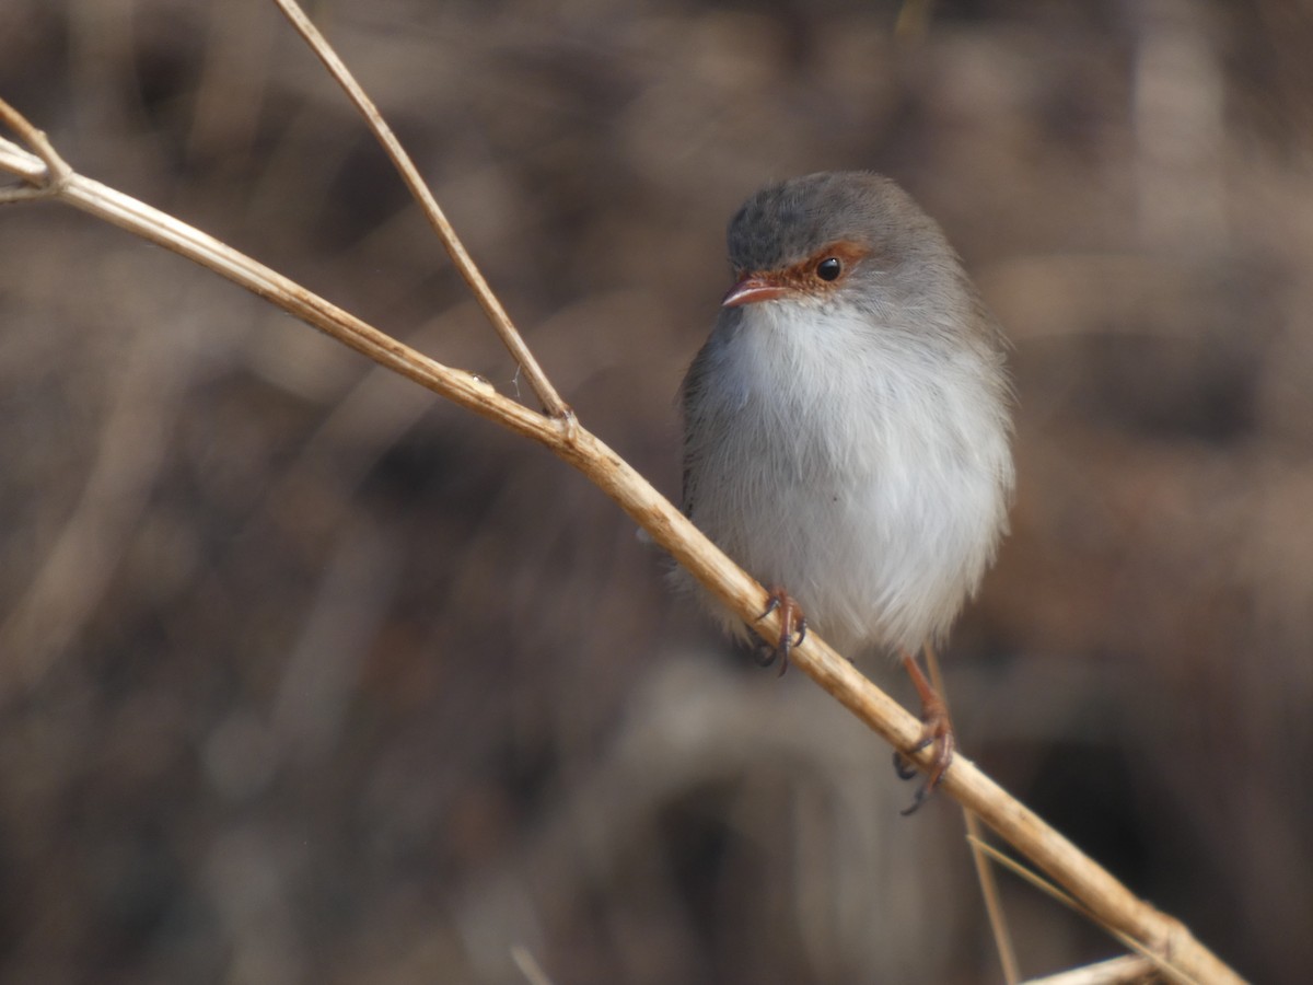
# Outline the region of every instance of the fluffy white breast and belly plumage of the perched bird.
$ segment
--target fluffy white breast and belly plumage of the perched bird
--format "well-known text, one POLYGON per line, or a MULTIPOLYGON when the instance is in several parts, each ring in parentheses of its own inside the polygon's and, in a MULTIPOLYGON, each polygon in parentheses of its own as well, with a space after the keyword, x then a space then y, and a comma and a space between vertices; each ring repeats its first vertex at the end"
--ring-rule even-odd
POLYGON ((982 376, 997 353, 760 303, 699 359, 693 521, 848 655, 941 637, 1006 525, 1007 408, 982 376))

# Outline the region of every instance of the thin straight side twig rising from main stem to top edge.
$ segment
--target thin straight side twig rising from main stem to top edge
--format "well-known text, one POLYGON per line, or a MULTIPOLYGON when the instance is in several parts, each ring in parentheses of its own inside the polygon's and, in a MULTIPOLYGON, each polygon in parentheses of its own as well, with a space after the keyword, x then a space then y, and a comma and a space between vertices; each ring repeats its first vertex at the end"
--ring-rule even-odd
POLYGON ((511 317, 506 313, 502 306, 502 301, 492 293, 487 281, 483 278, 483 273, 470 259, 469 252, 465 250, 465 244, 461 243, 460 236, 456 235, 456 230, 452 223, 448 222, 446 214, 442 211, 437 200, 433 198, 433 193, 428 190, 428 185, 424 184, 424 179, 420 177, 419 169, 415 163, 406 154, 397 135, 383 121, 382 116, 378 113, 378 108, 374 105, 373 100, 365 95, 365 91, 360 87, 352 74, 347 70, 347 66, 337 53, 332 50, 328 41, 319 33, 319 29, 310 22, 310 18, 302 12, 294 0, 273 0, 286 14, 288 20, 291 21, 301 37, 306 39, 311 50, 319 56, 319 60, 324 63, 328 74, 337 80, 337 84, 345 91, 347 97, 356 105, 360 114, 365 118, 369 129, 374 131, 374 137, 378 142, 383 144, 383 150, 387 151, 387 156, 391 158, 393 164, 397 171, 400 172, 402 180, 410 189, 411 194, 415 196, 415 201, 419 202, 420 208, 424 210, 424 215, 428 217, 429 225, 433 231, 437 232, 437 238, 446 247, 448 255, 452 257, 452 263, 456 264, 456 269, 460 271, 461 277, 469 285, 474 297, 478 299, 479 306, 482 306, 483 313, 487 319, 492 323, 496 334, 502 336, 502 341, 511 351, 511 356, 524 370, 525 377, 529 380, 529 386, 533 387, 533 393, 537 394, 538 402, 542 410, 563 422, 566 427, 574 426, 574 411, 570 410, 569 405, 561 399, 555 387, 548 380, 546 373, 538 365, 538 361, 529 352, 529 347, 525 345, 524 339, 520 332, 516 331, 515 324, 511 322, 511 317))

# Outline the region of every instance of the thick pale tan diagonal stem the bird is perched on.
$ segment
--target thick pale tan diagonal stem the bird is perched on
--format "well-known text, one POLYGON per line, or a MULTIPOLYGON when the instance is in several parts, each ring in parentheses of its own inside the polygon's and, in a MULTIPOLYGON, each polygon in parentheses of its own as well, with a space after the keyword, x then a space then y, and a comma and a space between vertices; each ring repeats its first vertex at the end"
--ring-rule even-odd
MULTIPOLYGON (((3 100, 0 108, 7 108, 3 100)), ((7 160, 18 162, 13 173, 26 177, 34 185, 49 188, 60 201, 215 271, 379 365, 544 444, 614 500, 708 591, 754 625, 764 640, 779 638, 779 615, 758 619, 767 605, 765 590, 693 527, 632 465, 583 427, 562 426, 559 418, 538 414, 503 397, 475 374, 428 359, 276 271, 121 192, 76 173, 60 177, 49 165, 42 165, 41 177, 33 179, 33 163, 41 164, 41 160, 34 155, 24 159, 21 148, 0 139, 0 163, 7 160)), ((931 749, 911 751, 920 735, 920 721, 867 680, 818 636, 809 633, 793 650, 792 661, 920 768, 932 766, 931 749)), ((978 814, 1003 841, 1066 886, 1107 926, 1138 942, 1165 968, 1170 968, 1171 978, 1208 984, 1241 981, 1195 940, 1179 921, 1138 900, 1035 812, 977 770, 966 756, 955 758, 940 789, 978 814)))

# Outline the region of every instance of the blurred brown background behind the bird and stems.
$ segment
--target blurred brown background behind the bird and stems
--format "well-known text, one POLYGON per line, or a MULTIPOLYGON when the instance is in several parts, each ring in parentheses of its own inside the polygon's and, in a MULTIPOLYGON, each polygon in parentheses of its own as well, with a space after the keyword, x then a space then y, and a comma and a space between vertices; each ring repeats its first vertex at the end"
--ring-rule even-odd
MULTIPOLYGON (((4 0, 102 180, 507 393, 272 4, 4 0)), ((1255 981, 1313 968, 1313 13, 315 5, 587 426, 674 393, 777 177, 874 168, 1015 340, 962 745, 1255 981), (915 18, 914 18, 915 20, 915 18), (905 25, 907 26, 907 25, 905 25)), ((961 820, 546 453, 55 205, 0 210, 0 978, 999 980, 961 820)), ((872 676, 903 700, 893 668, 872 676)), ((1004 876, 1029 974, 1116 952, 1004 876)))

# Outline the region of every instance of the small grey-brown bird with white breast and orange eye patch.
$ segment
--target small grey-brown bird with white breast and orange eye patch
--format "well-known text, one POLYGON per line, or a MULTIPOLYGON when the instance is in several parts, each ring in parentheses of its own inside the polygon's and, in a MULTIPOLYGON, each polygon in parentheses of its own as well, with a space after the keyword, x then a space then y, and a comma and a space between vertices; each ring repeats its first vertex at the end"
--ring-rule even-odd
POLYGON ((932 746, 911 810, 956 749, 919 655, 1007 532, 1007 343, 939 225, 885 176, 772 184, 726 243, 734 282, 680 386, 683 508, 768 587, 781 674, 809 629, 850 659, 902 661, 922 703, 916 749, 932 746))

